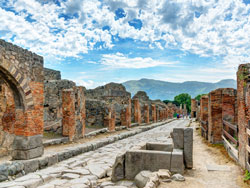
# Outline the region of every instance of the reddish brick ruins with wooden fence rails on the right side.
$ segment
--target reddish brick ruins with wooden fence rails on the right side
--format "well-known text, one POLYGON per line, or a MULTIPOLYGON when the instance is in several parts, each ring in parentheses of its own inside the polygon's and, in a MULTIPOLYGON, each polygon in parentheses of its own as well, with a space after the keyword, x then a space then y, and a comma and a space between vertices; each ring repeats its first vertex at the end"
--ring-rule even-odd
POLYGON ((250 64, 237 72, 237 90, 220 88, 200 100, 202 136, 211 143, 223 143, 228 154, 250 171, 250 64))

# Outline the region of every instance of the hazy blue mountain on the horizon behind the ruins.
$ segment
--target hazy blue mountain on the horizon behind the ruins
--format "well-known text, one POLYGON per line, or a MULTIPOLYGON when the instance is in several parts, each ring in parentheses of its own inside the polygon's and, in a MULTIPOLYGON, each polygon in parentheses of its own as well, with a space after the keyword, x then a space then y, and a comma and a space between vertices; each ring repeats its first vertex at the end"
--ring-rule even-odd
POLYGON ((187 81, 183 83, 165 82, 152 79, 130 80, 122 83, 132 96, 137 91, 145 91, 151 99, 173 100, 176 95, 188 93, 192 98, 199 94, 209 93, 217 88, 236 88, 233 79, 221 80, 216 83, 187 81))

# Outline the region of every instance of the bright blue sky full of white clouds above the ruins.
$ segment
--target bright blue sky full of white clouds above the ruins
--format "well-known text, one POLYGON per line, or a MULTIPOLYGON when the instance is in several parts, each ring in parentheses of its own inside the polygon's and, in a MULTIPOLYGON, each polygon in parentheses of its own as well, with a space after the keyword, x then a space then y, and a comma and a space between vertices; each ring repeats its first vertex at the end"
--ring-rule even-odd
POLYGON ((141 78, 235 79, 250 0, 1 0, 0 38, 93 88, 141 78))

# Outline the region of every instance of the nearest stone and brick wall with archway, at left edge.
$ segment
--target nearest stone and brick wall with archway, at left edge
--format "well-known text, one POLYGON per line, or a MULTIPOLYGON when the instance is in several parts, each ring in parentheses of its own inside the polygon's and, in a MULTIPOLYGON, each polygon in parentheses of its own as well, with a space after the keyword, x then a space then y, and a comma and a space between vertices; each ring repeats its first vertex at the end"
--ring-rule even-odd
POLYGON ((43 154, 43 80, 42 57, 0 40, 0 127, 14 137, 13 159, 43 154))

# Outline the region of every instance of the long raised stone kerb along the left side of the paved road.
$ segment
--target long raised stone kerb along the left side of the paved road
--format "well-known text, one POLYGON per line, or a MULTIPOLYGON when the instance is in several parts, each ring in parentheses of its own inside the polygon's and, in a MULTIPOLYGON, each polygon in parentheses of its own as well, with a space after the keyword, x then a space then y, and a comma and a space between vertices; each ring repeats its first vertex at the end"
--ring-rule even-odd
MULTIPOLYGON (((90 141, 88 143, 79 144, 77 146, 67 148, 61 152, 58 152, 56 154, 50 154, 48 156, 42 156, 42 157, 31 159, 31 160, 8 161, 0 165, 0 182, 14 180, 28 173, 47 168, 49 166, 52 166, 58 162, 64 161, 71 157, 74 157, 74 156, 77 156, 77 155, 80 155, 89 151, 94 151, 100 147, 114 143, 118 140, 122 140, 128 137, 134 136, 136 134, 151 130, 153 128, 165 125, 166 123, 170 123, 174 120, 175 119, 169 119, 163 122, 153 123, 151 125, 144 125, 144 126, 142 125, 142 126, 139 126, 138 129, 136 130, 131 130, 125 133, 110 136, 110 137, 103 138, 97 141, 90 141)), ((0 184, 0 188, 1 188, 1 184, 0 184)))

